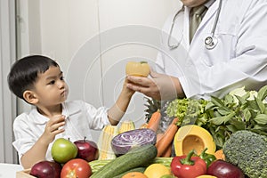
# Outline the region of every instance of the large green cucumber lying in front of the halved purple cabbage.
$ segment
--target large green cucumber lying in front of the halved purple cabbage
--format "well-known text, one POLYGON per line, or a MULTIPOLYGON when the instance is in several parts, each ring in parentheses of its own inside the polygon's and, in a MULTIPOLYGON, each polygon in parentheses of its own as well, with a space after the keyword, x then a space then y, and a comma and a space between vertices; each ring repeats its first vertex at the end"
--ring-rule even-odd
POLYGON ((139 166, 145 166, 157 157, 158 150, 153 144, 142 145, 117 157, 103 166, 90 178, 110 178, 139 166))

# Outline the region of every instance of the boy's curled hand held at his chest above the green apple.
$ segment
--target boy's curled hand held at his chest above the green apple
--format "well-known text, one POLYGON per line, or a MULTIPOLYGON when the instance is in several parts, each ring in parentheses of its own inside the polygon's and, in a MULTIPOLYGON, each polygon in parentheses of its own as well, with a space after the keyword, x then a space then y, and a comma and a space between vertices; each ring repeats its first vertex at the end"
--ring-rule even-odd
POLYGON ((50 118, 50 120, 46 123, 44 134, 42 135, 44 142, 53 142, 56 134, 61 134, 65 131, 62 127, 63 125, 65 125, 65 116, 60 115, 50 118))

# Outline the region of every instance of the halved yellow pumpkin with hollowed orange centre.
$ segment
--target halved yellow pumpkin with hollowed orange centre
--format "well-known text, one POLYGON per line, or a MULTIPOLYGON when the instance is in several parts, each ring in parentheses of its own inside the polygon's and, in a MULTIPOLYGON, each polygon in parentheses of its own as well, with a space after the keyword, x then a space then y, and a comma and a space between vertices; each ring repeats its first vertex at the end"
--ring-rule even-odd
POLYGON ((212 135, 198 125, 183 125, 174 136, 174 150, 176 156, 187 155, 190 150, 195 150, 199 155, 203 150, 214 154, 216 145, 212 135))

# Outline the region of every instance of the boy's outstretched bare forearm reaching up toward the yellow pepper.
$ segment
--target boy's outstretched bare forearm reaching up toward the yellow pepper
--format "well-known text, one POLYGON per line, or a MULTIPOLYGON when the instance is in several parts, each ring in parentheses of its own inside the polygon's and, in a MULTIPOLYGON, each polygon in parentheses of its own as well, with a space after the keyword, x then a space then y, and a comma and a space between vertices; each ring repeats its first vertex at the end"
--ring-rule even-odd
POLYGON ((120 119, 124 116, 126 109, 131 101, 134 91, 126 87, 127 79, 123 85, 123 89, 119 94, 115 104, 108 110, 109 123, 117 125, 120 119))

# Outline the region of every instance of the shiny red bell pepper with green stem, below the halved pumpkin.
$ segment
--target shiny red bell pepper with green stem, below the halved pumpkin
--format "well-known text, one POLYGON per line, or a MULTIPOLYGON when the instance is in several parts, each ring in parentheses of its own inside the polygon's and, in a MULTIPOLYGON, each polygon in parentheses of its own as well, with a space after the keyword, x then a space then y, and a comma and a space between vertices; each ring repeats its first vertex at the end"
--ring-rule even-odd
POLYGON ((171 162, 172 173, 179 178, 196 178, 206 174, 206 162, 193 155, 194 150, 191 150, 188 155, 174 157, 171 162))

